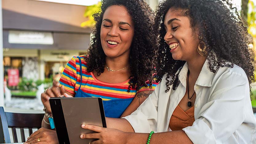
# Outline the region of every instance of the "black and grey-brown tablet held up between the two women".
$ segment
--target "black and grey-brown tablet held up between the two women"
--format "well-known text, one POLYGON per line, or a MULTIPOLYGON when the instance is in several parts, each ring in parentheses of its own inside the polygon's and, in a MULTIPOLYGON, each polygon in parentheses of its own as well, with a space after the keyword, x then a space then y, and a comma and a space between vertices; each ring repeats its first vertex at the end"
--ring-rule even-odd
POLYGON ((97 139, 81 139, 81 134, 95 133, 81 127, 106 126, 101 98, 50 98, 50 106, 59 143, 85 144, 97 139))

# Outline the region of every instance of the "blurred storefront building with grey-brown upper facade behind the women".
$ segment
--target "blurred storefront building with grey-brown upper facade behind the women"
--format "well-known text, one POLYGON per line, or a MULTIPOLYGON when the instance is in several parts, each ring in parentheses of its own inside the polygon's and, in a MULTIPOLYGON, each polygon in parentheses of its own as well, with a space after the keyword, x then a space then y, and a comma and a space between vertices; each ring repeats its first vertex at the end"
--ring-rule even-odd
POLYGON ((5 79, 12 69, 18 70, 20 78, 44 80, 59 75, 72 56, 84 54, 91 33, 91 29, 80 27, 86 21, 85 9, 52 2, 2 0, 5 79))

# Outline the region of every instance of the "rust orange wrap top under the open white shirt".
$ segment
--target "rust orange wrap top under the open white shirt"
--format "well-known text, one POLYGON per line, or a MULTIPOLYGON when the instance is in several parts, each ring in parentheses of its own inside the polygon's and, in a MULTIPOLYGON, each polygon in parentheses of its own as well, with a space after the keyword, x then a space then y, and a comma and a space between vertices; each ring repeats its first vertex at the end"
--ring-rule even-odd
POLYGON ((183 111, 179 105, 175 108, 171 115, 169 127, 171 130, 182 130, 187 126, 192 126, 195 121, 194 106, 187 111, 183 111))

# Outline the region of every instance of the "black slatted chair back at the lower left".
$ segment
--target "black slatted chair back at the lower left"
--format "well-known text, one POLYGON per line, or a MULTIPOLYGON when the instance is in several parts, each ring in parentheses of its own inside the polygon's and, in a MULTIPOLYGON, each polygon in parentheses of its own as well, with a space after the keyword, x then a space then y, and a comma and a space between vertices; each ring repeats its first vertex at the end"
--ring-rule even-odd
POLYGON ((29 134, 32 134, 32 128, 41 128, 43 118, 44 114, 5 112, 0 107, 0 143, 11 142, 8 128, 12 129, 14 142, 18 142, 16 128, 20 129, 22 142, 25 142, 24 128, 29 129, 29 134))

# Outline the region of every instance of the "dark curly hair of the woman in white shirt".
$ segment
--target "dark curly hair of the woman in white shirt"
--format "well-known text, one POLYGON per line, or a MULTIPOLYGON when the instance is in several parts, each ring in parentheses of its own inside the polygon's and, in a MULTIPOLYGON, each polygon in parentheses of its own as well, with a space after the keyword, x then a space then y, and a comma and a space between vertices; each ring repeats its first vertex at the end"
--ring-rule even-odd
POLYGON ((169 46, 164 41, 164 18, 170 8, 181 10, 182 15, 190 19, 191 28, 203 37, 206 43, 208 67, 215 73, 219 67, 233 68, 234 64, 241 67, 247 75, 249 84, 254 80, 254 52, 248 48, 249 38, 246 24, 239 17, 237 8, 230 0, 166 0, 161 2, 156 11, 155 33, 160 37, 158 49, 158 76, 166 77, 166 91, 179 85, 175 73, 185 61, 174 60, 169 46), (215 52, 215 54, 213 53, 215 52), (171 79, 170 79, 171 77, 171 79))

